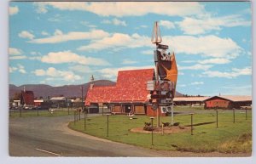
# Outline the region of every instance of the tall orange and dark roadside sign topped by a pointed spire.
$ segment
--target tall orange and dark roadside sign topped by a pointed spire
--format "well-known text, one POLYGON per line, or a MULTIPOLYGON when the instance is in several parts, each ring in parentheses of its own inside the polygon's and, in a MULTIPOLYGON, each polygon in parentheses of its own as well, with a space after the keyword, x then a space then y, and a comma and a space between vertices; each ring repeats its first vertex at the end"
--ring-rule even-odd
MULTIPOLYGON (((173 99, 176 92, 177 84, 177 64, 175 54, 168 53, 168 46, 160 44, 162 37, 160 36, 160 27, 158 22, 154 22, 154 29, 152 33, 151 42, 156 45, 154 50, 154 64, 155 64, 155 79, 153 82, 148 82, 148 90, 153 91, 154 95, 149 96, 152 105, 158 106, 160 103, 166 102, 172 109, 172 124, 173 124, 173 99), (152 89, 152 90, 151 90, 152 89), (171 99, 171 100, 170 100, 171 99)), ((160 114, 157 110, 157 126, 160 126, 160 114)))

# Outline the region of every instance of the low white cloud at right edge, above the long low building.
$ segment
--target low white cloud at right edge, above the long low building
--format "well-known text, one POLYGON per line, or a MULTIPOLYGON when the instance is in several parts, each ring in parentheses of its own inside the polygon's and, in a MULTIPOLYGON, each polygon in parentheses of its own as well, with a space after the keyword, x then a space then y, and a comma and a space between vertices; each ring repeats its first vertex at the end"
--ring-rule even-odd
POLYGON ((245 67, 242 69, 233 68, 232 71, 205 71, 203 75, 209 77, 224 77, 224 78, 235 78, 237 76, 251 76, 252 68, 245 67))

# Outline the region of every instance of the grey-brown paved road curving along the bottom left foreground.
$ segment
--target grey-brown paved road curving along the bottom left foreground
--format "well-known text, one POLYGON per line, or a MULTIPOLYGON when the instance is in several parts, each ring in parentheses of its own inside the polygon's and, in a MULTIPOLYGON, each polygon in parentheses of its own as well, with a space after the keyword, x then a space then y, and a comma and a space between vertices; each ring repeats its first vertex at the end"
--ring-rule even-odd
MULTIPOLYGON (((149 150, 98 139, 67 127, 73 116, 10 118, 10 156, 234 156, 149 150)), ((236 156, 247 156, 238 154, 236 156)))

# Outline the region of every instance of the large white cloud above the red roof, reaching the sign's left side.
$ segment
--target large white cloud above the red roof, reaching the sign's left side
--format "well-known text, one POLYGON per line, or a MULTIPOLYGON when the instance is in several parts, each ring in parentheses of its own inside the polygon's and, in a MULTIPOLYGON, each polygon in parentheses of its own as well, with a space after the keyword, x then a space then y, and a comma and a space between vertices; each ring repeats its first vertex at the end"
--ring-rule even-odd
POLYGON ((140 36, 137 33, 131 36, 123 33, 113 33, 110 37, 104 37, 102 40, 92 41, 90 44, 81 46, 79 50, 102 50, 107 48, 139 48, 153 47, 150 38, 140 36))

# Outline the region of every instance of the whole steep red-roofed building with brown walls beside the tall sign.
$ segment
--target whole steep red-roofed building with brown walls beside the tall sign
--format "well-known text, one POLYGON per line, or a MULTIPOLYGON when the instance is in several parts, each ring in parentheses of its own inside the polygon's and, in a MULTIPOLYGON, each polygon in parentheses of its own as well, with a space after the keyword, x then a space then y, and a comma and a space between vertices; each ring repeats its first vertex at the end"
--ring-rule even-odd
MULTIPOLYGON (((154 80, 154 69, 119 71, 115 86, 94 86, 93 82, 85 96, 84 105, 90 111, 100 112, 106 108, 113 114, 156 116, 152 110, 147 82, 154 80)), ((160 116, 166 116, 158 109, 160 116)), ((104 110, 105 111, 105 110, 104 110)))

